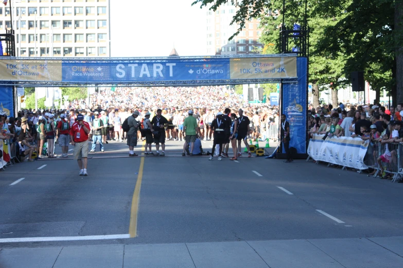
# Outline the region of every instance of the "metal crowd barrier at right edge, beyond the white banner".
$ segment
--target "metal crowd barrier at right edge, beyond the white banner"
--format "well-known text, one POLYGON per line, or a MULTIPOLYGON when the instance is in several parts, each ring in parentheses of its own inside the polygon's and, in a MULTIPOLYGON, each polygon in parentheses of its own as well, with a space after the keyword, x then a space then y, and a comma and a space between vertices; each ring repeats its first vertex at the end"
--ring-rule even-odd
POLYGON ((364 163, 375 170, 374 177, 384 177, 387 174, 391 174, 392 182, 395 182, 403 178, 403 162, 400 158, 402 155, 402 143, 382 144, 377 142, 370 144, 368 147, 364 163), (378 162, 381 163, 381 166, 379 166, 378 162))

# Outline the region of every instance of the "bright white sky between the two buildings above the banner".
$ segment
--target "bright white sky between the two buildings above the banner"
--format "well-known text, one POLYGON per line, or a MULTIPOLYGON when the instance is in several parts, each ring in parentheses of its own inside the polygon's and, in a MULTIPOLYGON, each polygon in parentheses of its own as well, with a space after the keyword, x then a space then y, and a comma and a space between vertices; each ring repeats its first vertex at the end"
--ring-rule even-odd
POLYGON ((180 56, 206 51, 206 9, 193 0, 111 1, 111 56, 180 56))

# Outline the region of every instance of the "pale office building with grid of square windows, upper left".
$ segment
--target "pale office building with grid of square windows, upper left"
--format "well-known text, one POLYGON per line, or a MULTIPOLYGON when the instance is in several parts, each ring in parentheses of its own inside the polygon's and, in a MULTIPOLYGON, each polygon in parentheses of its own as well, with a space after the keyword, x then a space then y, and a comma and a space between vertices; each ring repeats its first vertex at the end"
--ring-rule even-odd
MULTIPOLYGON (((110 0, 13 0, 17 56, 110 56, 110 0)), ((10 5, 0 6, 0 31, 10 5)))

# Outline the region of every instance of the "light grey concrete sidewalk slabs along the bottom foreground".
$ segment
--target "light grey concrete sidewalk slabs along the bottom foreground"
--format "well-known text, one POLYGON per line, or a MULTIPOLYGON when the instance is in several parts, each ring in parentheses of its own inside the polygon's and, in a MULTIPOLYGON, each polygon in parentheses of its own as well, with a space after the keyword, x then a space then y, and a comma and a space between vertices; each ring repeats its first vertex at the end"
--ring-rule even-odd
POLYGON ((403 267, 403 237, 2 248, 0 267, 403 267))

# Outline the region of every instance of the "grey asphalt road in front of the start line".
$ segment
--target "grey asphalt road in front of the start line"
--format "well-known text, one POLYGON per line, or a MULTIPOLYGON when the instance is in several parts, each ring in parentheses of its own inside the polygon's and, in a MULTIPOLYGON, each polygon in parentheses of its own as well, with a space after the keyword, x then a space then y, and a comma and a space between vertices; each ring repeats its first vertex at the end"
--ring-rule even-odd
MULTIPOLYGON (((1 247, 403 235, 403 184, 305 160, 181 157, 182 144, 144 158, 135 238, 1 247)), ((124 143, 105 150, 90 155, 86 177, 72 156, 0 171, 0 239, 128 234, 141 157, 124 143)))

